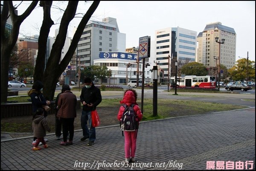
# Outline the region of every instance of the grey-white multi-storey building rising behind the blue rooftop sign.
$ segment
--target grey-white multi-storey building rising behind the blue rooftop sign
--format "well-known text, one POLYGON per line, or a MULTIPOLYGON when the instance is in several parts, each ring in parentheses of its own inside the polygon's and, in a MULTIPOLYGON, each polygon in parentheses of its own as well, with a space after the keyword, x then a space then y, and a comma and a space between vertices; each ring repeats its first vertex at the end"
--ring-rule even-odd
POLYGON ((81 66, 93 65, 102 51, 125 52, 125 34, 119 32, 115 18, 107 17, 102 22, 91 21, 84 28, 77 45, 77 57, 81 66))

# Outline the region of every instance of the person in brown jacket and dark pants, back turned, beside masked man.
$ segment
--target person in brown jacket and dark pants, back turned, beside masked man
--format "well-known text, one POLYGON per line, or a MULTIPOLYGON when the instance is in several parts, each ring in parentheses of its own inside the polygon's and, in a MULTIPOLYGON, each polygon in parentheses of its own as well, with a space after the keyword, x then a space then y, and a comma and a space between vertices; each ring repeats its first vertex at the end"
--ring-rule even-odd
POLYGON ((63 141, 61 145, 72 145, 74 137, 74 120, 76 117, 76 95, 70 91, 70 86, 64 84, 58 98, 57 116, 63 126, 63 141), (67 134, 69 131, 69 142, 67 142, 67 134))

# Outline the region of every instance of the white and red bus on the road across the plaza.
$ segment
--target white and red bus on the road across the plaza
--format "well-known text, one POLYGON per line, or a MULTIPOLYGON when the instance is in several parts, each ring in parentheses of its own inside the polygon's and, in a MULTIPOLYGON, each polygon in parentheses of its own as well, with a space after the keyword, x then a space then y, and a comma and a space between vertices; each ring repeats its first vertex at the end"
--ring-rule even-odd
MULTIPOLYGON (((175 86, 175 77, 171 77, 171 87, 175 86)), ((215 76, 195 76, 186 75, 177 77, 177 87, 195 87, 195 88, 216 88, 215 76)))

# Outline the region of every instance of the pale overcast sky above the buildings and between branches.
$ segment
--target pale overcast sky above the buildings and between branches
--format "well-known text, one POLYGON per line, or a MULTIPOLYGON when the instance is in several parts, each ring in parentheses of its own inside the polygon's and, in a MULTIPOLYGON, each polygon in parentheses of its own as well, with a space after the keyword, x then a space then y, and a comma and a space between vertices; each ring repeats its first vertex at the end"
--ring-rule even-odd
MULTIPOLYGON (((17 2, 13 1, 14 5, 17 2)), ((23 2, 27 7, 29 1, 23 2)), ((64 4, 64 1, 59 2, 54 4, 64 4)), ((86 12, 92 1, 88 2, 79 2, 79 12, 86 12)), ((23 6, 18 11, 21 14, 23 6)), ((55 23, 60 22, 57 20, 61 16, 59 13, 52 10, 55 23)), ((38 3, 37 9, 24 20, 20 32, 39 34, 36 27, 41 27, 42 15, 38 3)), ((151 36, 151 40, 154 40, 155 30, 158 29, 181 27, 199 34, 206 24, 221 22, 236 31, 236 60, 239 56, 246 58, 248 51, 249 60, 255 61, 255 1, 101 1, 91 19, 102 21, 104 17, 116 18, 119 31, 126 34, 126 48, 138 46, 139 37, 151 36)), ((58 26, 52 26, 49 36, 54 36, 58 26)), ((70 32, 75 26, 78 26, 77 21, 70 24, 70 32)))

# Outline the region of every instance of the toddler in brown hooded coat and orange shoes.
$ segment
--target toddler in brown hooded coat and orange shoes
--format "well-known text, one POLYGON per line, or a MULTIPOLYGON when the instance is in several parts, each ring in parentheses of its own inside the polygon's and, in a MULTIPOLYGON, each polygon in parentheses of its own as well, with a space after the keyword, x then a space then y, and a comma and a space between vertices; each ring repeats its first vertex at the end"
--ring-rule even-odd
POLYGON ((38 108, 35 111, 35 114, 33 115, 32 129, 34 132, 34 137, 37 137, 37 140, 32 150, 41 150, 41 148, 38 147, 40 142, 43 143, 44 148, 48 148, 48 145, 44 141, 44 137, 46 136, 46 130, 50 132, 51 129, 48 126, 47 119, 44 117, 43 108, 38 108))

